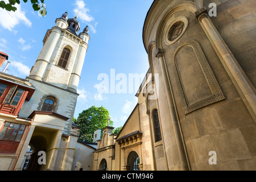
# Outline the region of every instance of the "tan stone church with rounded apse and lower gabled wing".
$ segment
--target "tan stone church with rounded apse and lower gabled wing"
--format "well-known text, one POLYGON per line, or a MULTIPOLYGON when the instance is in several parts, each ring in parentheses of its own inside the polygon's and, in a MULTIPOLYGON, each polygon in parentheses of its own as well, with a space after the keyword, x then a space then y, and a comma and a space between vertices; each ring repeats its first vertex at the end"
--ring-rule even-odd
POLYGON ((98 140, 94 170, 256 169, 253 7, 152 3, 143 27, 149 76, 121 132, 108 134, 114 142, 98 140))

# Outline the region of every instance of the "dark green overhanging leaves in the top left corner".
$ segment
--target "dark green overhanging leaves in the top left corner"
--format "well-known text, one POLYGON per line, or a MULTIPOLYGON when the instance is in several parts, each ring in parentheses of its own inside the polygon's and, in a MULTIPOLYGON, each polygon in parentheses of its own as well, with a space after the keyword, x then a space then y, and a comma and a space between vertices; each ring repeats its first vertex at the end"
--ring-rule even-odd
MULTIPOLYGON (((8 0, 9 3, 6 3, 5 1, 0 1, 0 7, 2 9, 5 9, 7 11, 16 11, 17 8, 14 6, 16 3, 19 5, 20 0, 8 0)), ((28 0, 23 0, 24 3, 26 3, 28 0)), ((42 16, 46 16, 46 6, 44 5, 44 0, 31 0, 32 7, 35 11, 39 11, 39 13, 42 16), (39 2, 40 1, 40 2, 39 2)))

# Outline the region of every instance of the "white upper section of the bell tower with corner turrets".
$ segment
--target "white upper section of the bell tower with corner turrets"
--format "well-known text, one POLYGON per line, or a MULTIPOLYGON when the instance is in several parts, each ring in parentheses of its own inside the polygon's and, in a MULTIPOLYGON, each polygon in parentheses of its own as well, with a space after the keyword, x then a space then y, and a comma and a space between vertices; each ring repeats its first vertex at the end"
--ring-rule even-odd
POLYGON ((68 19, 68 13, 55 23, 44 37, 44 46, 29 77, 76 92, 90 39, 88 26, 77 35, 77 16, 68 19))

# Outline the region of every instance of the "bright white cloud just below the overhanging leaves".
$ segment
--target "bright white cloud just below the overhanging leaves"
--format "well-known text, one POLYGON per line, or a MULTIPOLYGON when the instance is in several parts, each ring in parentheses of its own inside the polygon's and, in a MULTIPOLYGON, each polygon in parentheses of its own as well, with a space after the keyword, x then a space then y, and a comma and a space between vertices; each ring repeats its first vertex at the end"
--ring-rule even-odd
POLYGON ((16 4, 15 7, 17 8, 15 12, 9 12, 0 8, 1 26, 13 31, 14 34, 16 34, 17 31, 13 30, 13 28, 20 22, 26 24, 28 27, 32 25, 31 21, 26 17, 25 12, 21 10, 21 6, 16 4))

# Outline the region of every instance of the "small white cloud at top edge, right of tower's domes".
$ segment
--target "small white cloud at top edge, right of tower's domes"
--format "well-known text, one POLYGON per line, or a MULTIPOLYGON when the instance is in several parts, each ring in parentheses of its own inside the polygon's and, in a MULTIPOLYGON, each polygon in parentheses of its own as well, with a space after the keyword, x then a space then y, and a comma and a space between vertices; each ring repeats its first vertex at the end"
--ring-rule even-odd
POLYGON ((79 18, 83 22, 91 22, 94 20, 93 16, 89 14, 89 9, 85 7, 86 4, 82 0, 76 1, 76 8, 73 10, 75 14, 78 14, 79 18))

